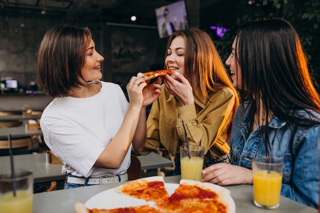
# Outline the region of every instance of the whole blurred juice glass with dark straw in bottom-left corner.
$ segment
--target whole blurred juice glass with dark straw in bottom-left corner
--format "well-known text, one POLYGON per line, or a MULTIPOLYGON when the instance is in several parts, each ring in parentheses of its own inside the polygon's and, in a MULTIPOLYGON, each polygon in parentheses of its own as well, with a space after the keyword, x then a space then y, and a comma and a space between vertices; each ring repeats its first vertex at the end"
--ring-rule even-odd
POLYGON ((29 170, 0 174, 0 212, 32 213, 33 173, 29 170))

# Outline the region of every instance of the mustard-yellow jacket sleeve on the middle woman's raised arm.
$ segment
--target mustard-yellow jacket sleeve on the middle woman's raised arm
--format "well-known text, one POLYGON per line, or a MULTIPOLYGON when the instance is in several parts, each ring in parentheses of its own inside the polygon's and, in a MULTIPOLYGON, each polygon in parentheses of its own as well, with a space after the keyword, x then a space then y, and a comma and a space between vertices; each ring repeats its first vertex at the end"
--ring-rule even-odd
POLYGON ((176 128, 180 139, 186 143, 181 122, 184 121, 190 145, 204 147, 205 153, 215 143, 224 146, 227 130, 232 123, 235 94, 222 92, 216 100, 210 101, 204 106, 203 113, 200 113, 201 115, 198 117, 195 104, 177 109, 176 128))

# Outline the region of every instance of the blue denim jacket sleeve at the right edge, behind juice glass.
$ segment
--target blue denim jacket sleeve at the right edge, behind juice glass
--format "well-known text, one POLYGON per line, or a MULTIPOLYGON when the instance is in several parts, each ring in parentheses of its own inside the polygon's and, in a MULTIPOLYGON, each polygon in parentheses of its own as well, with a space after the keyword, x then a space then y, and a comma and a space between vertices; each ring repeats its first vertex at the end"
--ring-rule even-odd
POLYGON ((295 161, 292 169, 291 184, 282 184, 281 195, 292 198, 300 203, 317 208, 319 159, 317 153, 317 135, 320 126, 316 126, 301 135, 299 143, 293 146, 295 161))

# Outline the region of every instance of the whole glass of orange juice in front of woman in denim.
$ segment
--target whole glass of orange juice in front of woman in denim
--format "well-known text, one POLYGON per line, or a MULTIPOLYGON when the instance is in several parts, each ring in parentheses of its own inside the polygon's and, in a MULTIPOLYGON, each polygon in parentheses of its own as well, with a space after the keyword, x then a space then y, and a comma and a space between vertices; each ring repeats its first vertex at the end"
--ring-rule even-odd
POLYGON ((254 202, 260 208, 279 207, 283 159, 257 157, 252 161, 254 202))

